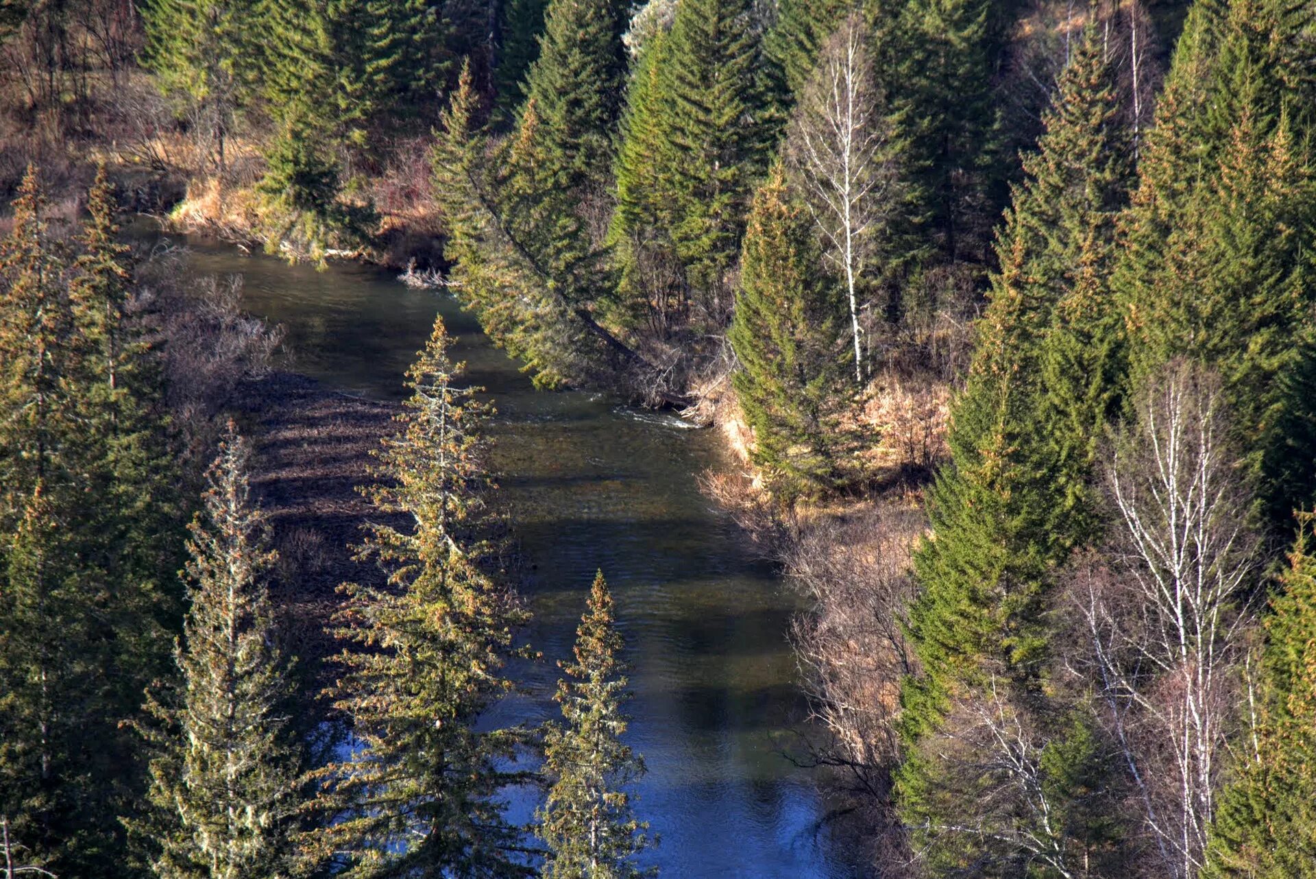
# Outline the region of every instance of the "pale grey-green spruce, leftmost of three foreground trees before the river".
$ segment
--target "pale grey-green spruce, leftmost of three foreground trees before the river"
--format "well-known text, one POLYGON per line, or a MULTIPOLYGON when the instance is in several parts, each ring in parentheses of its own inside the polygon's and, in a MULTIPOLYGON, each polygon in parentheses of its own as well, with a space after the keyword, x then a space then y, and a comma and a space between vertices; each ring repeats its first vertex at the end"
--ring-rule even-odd
POLYGON ((300 757, 290 741, 292 682, 278 646, 267 578, 275 561, 250 496, 250 446, 233 422, 207 472, 190 529, 190 608, 179 683, 153 693, 147 728, 151 870, 162 879, 300 874, 293 846, 300 757))

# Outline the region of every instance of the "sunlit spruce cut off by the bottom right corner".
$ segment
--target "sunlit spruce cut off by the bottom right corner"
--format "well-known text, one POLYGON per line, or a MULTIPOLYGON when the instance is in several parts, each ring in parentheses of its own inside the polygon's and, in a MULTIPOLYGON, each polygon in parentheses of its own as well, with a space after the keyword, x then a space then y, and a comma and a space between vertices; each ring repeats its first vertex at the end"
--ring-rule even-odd
POLYGON ((1204 879, 1316 876, 1316 518, 1299 534, 1265 620, 1257 717, 1220 795, 1204 879))

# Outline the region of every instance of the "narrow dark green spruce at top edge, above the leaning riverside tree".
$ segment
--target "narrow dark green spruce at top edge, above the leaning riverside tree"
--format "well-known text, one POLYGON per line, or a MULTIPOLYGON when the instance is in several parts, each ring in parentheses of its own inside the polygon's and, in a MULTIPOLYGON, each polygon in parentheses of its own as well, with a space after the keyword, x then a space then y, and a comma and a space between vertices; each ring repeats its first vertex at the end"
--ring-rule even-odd
POLYGON ((605 187, 624 75, 616 0, 550 0, 525 79, 545 186, 578 199, 605 187))

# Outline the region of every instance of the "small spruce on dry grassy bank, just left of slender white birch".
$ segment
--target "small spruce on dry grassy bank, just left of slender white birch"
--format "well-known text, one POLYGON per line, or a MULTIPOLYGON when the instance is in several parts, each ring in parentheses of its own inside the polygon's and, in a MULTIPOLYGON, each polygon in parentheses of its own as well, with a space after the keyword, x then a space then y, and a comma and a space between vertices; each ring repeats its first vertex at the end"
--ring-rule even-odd
POLYGON ((728 339, 741 366, 732 384, 754 430, 751 459, 784 497, 822 493, 844 478, 841 299, 821 263, 809 212, 776 167, 750 209, 728 339))

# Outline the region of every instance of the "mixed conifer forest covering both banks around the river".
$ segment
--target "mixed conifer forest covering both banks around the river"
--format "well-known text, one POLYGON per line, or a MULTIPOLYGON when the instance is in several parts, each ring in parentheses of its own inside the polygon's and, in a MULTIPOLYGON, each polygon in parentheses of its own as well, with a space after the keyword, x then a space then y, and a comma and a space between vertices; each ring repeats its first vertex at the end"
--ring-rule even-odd
POLYGON ((662 863, 443 318, 303 596, 283 330, 145 221, 716 436, 846 875, 1316 879, 1316 0, 0 0, 0 878, 662 863))

